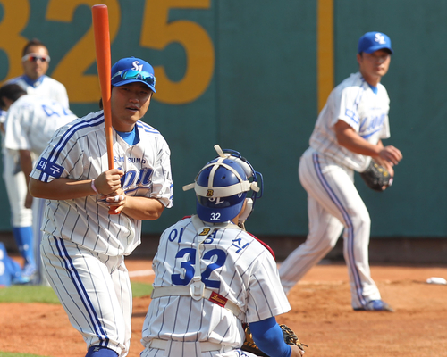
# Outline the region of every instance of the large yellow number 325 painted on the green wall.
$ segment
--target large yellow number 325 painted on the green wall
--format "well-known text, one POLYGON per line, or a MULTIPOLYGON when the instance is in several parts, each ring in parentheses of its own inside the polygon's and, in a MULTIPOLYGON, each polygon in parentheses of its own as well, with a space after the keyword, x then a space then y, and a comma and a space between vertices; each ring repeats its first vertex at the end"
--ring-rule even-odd
MULTIPOLYGON (((118 0, 102 0, 109 14, 110 41, 114 45, 121 20, 118 0)), ((49 0, 46 8, 48 21, 72 21, 75 10, 81 5, 99 4, 97 0, 49 0)), ((30 18, 29 0, 0 0, 4 7, 4 18, 0 22, 3 37, 0 47, 10 58, 7 78, 21 75, 20 59, 11 61, 12 54, 18 54, 28 41, 20 35, 30 18), (15 34, 15 35, 13 35, 15 34), (14 37, 15 36, 15 37, 14 37), (13 38, 12 38, 13 37, 13 38), (20 47, 20 48, 18 48, 20 47)), ((215 68, 215 52, 207 31, 193 21, 168 22, 169 10, 209 9, 210 0, 146 0, 143 24, 140 32, 140 46, 163 50, 176 42, 186 53, 186 71, 180 81, 174 82, 166 76, 163 66, 154 66, 156 72, 156 99, 164 104, 187 104, 198 99, 209 86, 215 68)), ((84 74, 95 61, 95 39, 93 28, 72 46, 52 72, 52 77, 67 87, 70 102, 96 102, 99 96, 97 75, 84 74)))

